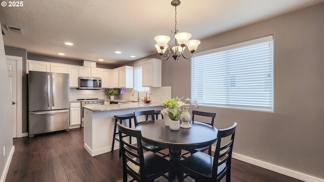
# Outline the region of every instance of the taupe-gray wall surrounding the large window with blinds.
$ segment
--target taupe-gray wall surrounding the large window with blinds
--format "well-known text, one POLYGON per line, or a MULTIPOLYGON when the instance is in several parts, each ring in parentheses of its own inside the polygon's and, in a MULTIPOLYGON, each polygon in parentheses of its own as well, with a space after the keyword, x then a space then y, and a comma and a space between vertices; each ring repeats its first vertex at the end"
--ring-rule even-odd
MULTIPOLYGON (((235 153, 324 179, 323 18, 321 3, 201 41, 197 51, 274 35, 273 113, 197 109, 216 112, 219 128, 237 122, 235 153)), ((190 61, 163 62, 162 83, 190 97, 190 61)))

